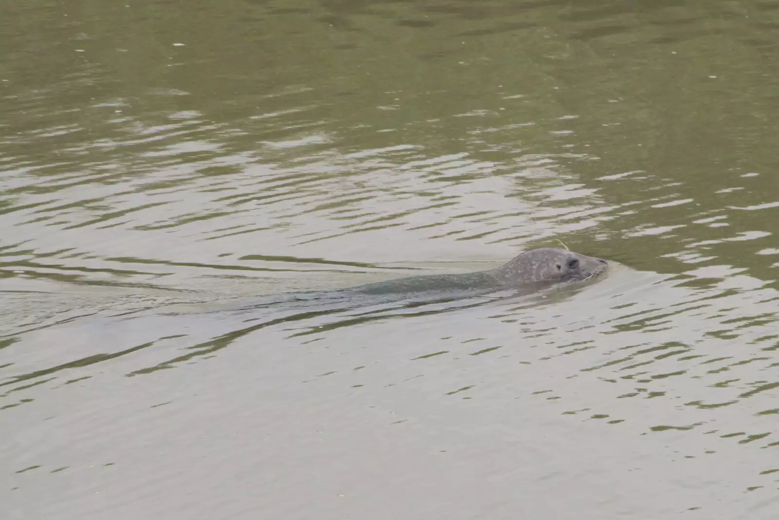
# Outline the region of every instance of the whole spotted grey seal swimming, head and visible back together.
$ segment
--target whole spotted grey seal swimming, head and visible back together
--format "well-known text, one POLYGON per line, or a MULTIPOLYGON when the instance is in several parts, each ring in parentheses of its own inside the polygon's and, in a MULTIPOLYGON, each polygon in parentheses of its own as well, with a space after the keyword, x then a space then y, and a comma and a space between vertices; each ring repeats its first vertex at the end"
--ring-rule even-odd
POLYGON ((608 269, 602 258, 580 255, 559 248, 524 251, 499 268, 450 275, 409 276, 386 282, 352 287, 365 294, 418 293, 428 291, 492 291, 520 289, 582 281, 608 269))

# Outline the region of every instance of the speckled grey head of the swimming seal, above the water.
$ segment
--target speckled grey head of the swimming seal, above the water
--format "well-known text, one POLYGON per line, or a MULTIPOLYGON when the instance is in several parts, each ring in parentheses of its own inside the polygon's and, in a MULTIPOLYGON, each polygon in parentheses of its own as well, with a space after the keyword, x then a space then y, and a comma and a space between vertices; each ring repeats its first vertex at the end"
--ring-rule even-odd
POLYGON ((580 255, 559 248, 525 251, 493 274, 501 285, 515 287, 534 282, 581 281, 601 274, 608 268, 602 258, 580 255))

